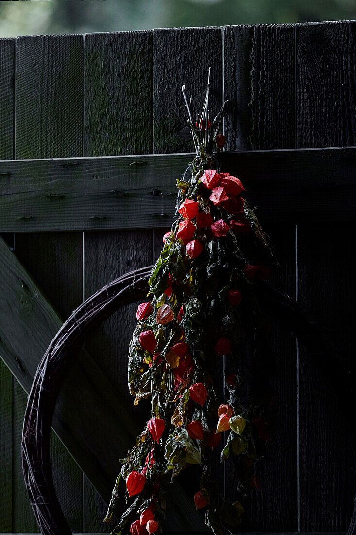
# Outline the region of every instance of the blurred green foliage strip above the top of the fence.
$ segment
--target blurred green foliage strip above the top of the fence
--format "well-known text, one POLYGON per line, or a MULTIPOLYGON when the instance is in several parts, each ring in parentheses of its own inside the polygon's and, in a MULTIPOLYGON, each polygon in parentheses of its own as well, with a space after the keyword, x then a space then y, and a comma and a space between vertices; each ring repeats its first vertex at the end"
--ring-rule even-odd
POLYGON ((356 0, 22 0, 0 3, 0 37, 355 18, 356 0))

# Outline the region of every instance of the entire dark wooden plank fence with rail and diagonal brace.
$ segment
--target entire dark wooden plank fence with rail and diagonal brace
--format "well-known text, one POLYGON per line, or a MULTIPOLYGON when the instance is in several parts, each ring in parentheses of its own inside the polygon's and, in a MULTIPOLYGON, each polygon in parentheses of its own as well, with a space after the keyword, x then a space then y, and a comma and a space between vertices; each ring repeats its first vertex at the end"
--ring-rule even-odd
MULTIPOLYGON (((274 282, 352 359, 355 65, 355 22, 0 40, 0 532, 38 531, 20 452, 36 366, 61 318, 157 258, 192 151, 181 86, 200 104, 209 66, 215 108, 230 101, 225 165, 258 206, 282 266, 274 282)), ((134 310, 92 333, 53 422, 57 493, 76 532, 108 531, 99 493, 114 483, 120 433, 126 444, 145 423, 126 383, 134 310)), ((272 328, 276 430, 242 531, 345 532, 355 465, 343 408, 303 347, 272 328)))

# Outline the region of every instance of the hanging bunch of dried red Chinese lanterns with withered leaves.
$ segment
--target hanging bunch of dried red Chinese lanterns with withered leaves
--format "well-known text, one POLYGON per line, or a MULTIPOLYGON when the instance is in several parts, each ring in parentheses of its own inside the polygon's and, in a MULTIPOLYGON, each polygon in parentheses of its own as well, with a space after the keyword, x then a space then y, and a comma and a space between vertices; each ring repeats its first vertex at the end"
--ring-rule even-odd
POLYGON ((196 157, 190 180, 187 172, 177 180, 178 218, 152 270, 149 301, 137 309, 128 384, 134 404, 151 399, 151 418, 121 460, 105 521, 112 521, 123 493, 127 509, 112 533, 159 532, 162 483, 189 464, 204 465, 194 502, 205 509, 206 524, 219 535, 224 525, 236 528, 243 506, 218 492, 207 450, 218 447, 226 433, 221 460, 233 460, 242 496, 259 486, 256 438, 268 440, 266 323, 255 281, 269 276, 272 254, 242 197, 242 182, 219 172, 213 156, 214 147, 225 144, 219 134, 225 104, 211 119, 208 82, 203 111, 194 118, 182 90, 196 157), (215 378, 223 369, 222 388, 215 378))

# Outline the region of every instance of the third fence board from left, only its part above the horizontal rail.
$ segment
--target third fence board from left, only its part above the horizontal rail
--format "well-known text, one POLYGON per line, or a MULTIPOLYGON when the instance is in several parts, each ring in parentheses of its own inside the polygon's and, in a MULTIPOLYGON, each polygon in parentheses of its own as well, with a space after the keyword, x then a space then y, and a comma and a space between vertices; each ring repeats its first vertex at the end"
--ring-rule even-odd
POLYGON ((84 155, 152 152, 152 32, 84 37, 84 155))

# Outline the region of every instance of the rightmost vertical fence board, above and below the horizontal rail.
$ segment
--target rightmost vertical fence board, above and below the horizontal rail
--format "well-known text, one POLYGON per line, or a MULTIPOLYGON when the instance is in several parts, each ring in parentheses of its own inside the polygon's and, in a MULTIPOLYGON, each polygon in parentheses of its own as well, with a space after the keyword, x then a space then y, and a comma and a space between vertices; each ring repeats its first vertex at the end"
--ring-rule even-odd
MULTIPOLYGON (((355 27, 297 27, 298 148, 355 144, 355 27)), ((299 300, 350 358, 352 236, 350 224, 298 225, 299 300)), ((299 399, 300 529, 344 530, 354 496, 350 436, 331 385, 303 347, 299 399)))

